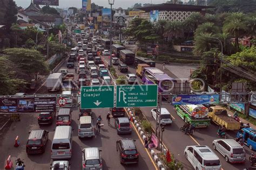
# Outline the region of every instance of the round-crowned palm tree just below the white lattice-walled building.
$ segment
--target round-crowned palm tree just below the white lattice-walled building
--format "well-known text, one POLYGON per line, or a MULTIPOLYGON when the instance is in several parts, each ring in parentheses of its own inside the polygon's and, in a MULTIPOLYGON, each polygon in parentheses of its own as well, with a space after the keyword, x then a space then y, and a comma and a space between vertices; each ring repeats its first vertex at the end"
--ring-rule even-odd
POLYGON ((168 22, 165 26, 164 36, 167 36, 168 39, 171 38, 172 42, 174 38, 184 37, 183 24, 177 21, 168 22))

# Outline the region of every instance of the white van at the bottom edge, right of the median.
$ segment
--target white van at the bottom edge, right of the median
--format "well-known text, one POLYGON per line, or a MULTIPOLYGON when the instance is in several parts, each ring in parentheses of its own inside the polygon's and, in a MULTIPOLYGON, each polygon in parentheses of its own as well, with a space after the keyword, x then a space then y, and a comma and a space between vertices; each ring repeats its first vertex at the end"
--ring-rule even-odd
POLYGON ((221 169, 219 157, 208 146, 187 146, 184 155, 194 169, 221 169))

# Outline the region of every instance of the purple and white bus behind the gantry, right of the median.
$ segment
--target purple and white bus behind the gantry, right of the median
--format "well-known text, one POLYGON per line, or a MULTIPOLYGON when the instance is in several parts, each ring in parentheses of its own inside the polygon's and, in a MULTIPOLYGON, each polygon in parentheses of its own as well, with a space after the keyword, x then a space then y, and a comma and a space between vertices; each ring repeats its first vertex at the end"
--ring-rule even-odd
POLYGON ((170 92, 177 82, 172 77, 156 67, 145 67, 142 73, 143 84, 157 84, 158 92, 170 92))

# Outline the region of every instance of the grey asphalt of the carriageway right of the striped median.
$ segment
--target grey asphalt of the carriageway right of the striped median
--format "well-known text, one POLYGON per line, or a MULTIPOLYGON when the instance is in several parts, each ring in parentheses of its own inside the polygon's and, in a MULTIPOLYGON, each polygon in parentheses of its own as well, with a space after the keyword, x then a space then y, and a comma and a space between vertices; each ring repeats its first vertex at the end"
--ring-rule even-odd
MULTIPOLYGON (((105 60, 109 62, 109 58, 104 56, 105 60)), ((120 62, 120 61, 119 61, 120 62)), ((128 68, 128 73, 120 73, 119 70, 117 69, 117 66, 113 66, 116 68, 117 74, 118 75, 126 75, 128 73, 134 73, 136 74, 136 69, 131 66, 128 68)), ((163 67, 161 64, 157 63, 156 67, 163 70, 163 67)), ((170 68, 171 66, 167 66, 166 68, 170 68)), ((177 66, 178 67, 178 66, 177 66)), ((177 68, 176 67, 176 68, 177 68)), ((191 66, 181 66, 183 68, 183 72, 190 72, 191 66)), ((169 74, 169 76, 174 77, 174 78, 184 78, 184 75, 187 75, 188 73, 182 73, 182 74, 177 74, 177 77, 175 74, 170 72, 170 70, 163 70, 165 73, 169 74)), ((138 81, 142 82, 142 80, 138 77, 138 81)), ((180 131, 180 127, 183 126, 184 121, 181 119, 177 114, 176 111, 174 111, 174 108, 171 104, 168 105, 163 105, 163 108, 166 108, 169 110, 173 117, 173 123, 170 126, 165 127, 165 131, 163 134, 163 142, 167 146, 167 148, 170 149, 170 152, 174 154, 175 158, 179 161, 182 162, 184 169, 193 169, 191 166, 190 162, 188 162, 185 157, 184 157, 184 149, 186 146, 190 145, 207 145, 212 148, 212 141, 214 139, 218 139, 217 136, 217 130, 218 126, 215 124, 210 125, 208 128, 205 129, 196 129, 196 132, 193 133, 193 136, 189 136, 184 134, 183 132, 180 131)), ((151 117, 151 110, 153 108, 140 108, 140 110, 143 111, 143 114, 147 118, 148 121, 151 122, 153 128, 156 128, 156 121, 151 117)), ((227 134, 229 138, 235 138, 237 131, 228 131, 227 134)), ((225 161, 224 157, 217 151, 214 151, 220 161, 223 169, 243 169, 243 168, 248 168, 250 166, 250 161, 248 158, 251 155, 251 151, 247 146, 244 146, 245 151, 246 151, 246 162, 245 164, 230 164, 225 161)))

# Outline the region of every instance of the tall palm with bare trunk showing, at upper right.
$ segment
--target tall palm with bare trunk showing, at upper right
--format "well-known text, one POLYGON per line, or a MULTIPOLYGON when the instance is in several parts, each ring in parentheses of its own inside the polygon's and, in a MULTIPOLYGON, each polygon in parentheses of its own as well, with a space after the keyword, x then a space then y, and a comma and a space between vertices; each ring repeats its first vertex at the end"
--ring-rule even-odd
POLYGON ((235 48, 238 50, 238 38, 248 30, 246 15, 242 12, 230 13, 230 15, 225 18, 223 30, 225 33, 230 33, 234 36, 235 48))

